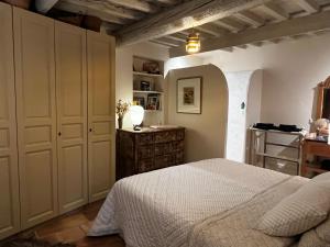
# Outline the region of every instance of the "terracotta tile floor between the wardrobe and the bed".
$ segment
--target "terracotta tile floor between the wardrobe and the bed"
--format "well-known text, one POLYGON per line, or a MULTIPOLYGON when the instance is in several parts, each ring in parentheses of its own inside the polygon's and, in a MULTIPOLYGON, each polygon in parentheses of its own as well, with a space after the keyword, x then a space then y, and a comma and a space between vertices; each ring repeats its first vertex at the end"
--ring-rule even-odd
POLYGON ((96 202, 80 210, 46 222, 34 229, 37 238, 50 243, 74 243, 77 247, 124 247, 119 236, 86 237, 102 202, 96 202))

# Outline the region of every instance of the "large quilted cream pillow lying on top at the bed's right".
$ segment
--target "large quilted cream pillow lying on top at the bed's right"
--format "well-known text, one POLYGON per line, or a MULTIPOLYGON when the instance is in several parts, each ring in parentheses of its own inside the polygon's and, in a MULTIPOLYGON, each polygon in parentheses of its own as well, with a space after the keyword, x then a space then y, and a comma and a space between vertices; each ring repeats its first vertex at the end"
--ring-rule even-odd
POLYGON ((330 180, 323 178, 310 180, 283 199, 265 213, 257 229, 272 236, 292 237, 324 221, 330 211, 330 180))

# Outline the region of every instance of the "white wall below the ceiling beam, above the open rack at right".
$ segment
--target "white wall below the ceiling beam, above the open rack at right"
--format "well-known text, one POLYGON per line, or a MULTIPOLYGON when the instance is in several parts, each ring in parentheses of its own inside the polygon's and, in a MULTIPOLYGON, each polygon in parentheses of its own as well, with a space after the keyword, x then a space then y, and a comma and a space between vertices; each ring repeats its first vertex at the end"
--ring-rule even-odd
POLYGON ((330 34, 199 55, 222 71, 263 69, 261 121, 309 128, 314 90, 330 75, 330 34))

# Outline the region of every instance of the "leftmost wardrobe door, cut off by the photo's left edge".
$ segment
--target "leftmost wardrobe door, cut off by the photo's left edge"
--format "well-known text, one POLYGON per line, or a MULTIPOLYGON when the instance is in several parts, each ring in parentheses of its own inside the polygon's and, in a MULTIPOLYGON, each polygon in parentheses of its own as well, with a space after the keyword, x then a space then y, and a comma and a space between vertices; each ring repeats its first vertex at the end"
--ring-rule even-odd
POLYGON ((20 229, 12 10, 0 2, 0 239, 20 229))

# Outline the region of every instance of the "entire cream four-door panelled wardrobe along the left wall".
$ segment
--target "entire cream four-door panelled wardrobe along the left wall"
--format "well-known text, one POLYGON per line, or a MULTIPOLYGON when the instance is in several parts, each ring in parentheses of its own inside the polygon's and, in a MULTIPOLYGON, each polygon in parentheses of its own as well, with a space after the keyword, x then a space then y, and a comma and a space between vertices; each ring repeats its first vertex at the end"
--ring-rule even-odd
POLYGON ((3 238, 113 184, 114 38, 1 2, 0 12, 3 238))

